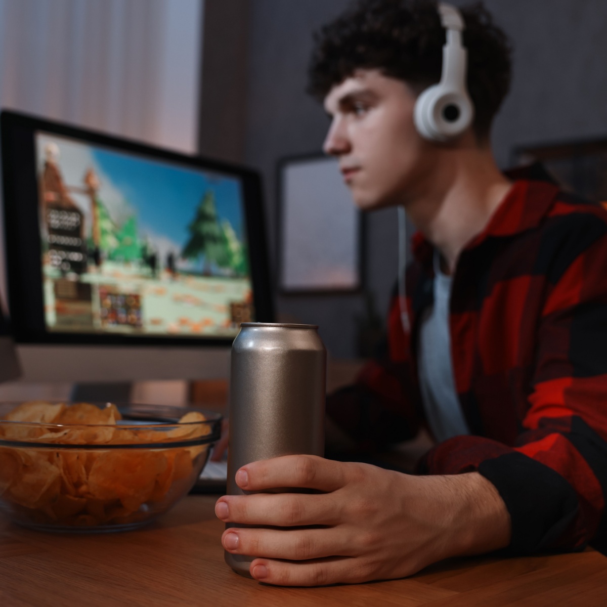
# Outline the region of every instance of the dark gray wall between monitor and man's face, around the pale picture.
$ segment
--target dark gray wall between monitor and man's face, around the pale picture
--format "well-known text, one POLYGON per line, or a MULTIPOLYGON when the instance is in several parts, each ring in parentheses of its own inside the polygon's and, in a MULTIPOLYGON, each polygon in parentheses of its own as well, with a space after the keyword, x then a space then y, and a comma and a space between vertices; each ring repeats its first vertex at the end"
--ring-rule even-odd
MULTIPOLYGON (((312 32, 347 5, 345 0, 254 0, 249 25, 249 87, 245 160, 265 177, 271 257, 277 259, 277 175, 279 158, 319 152, 329 121, 305 93, 312 32)), ((396 213, 367 215, 365 282, 376 293, 381 315, 396 276, 396 213)), ((276 264, 274 264, 276 268, 276 264)), ((361 294, 278 296, 285 320, 320 325, 333 356, 356 354, 354 317, 364 313, 361 294)))

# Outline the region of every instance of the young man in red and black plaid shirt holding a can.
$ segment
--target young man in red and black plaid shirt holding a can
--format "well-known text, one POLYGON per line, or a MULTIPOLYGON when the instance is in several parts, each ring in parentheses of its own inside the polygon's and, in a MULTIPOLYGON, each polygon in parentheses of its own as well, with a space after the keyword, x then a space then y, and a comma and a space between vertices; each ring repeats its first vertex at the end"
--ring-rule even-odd
POLYGON ((237 472, 217 502, 223 546, 257 580, 319 585, 402 577, 454 555, 607 546, 607 217, 551 183, 512 181, 489 145, 509 49, 483 8, 463 10, 475 121, 450 143, 416 129, 441 76, 430 0, 362 0, 322 31, 311 89, 333 121, 362 209, 404 207, 419 233, 389 348, 328 415, 359 446, 438 445, 405 475, 287 456, 237 472), (293 529, 276 529, 294 527, 293 529))

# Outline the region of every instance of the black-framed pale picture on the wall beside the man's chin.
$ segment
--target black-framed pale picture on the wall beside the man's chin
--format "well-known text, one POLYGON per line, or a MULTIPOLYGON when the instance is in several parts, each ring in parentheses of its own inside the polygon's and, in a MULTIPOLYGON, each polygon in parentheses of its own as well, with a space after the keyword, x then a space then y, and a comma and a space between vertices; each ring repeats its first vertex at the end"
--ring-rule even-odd
POLYGON ((361 291, 364 222, 337 159, 283 158, 278 177, 280 293, 361 291))

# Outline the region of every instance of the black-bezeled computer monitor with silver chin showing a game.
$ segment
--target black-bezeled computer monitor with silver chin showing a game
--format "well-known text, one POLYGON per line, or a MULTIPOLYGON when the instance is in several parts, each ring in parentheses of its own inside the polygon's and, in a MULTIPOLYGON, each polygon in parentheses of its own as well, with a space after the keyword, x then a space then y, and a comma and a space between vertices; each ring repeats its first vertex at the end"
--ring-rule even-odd
POLYGON ((23 379, 226 376, 273 319, 259 174, 16 112, 0 134, 23 379))

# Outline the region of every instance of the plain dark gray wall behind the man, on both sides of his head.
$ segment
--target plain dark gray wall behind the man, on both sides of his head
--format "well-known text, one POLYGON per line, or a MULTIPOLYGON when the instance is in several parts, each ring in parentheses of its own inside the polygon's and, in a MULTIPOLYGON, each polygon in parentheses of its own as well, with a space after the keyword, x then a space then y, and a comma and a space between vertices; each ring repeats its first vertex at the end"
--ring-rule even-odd
MULTIPOLYGON (((312 32, 346 4, 249 0, 243 160, 265 178, 273 262, 276 163, 320 151, 328 126, 322 108, 304 92, 312 32)), ((500 165, 509 163, 518 144, 607 136, 607 2, 487 0, 486 5, 515 47, 512 92, 494 129, 500 165)), ((381 313, 396 276, 395 219, 392 209, 367 215, 367 285, 381 313)), ((277 297, 282 317, 320 324, 331 354, 339 357, 355 354, 354 316, 363 307, 360 295, 277 297)))

